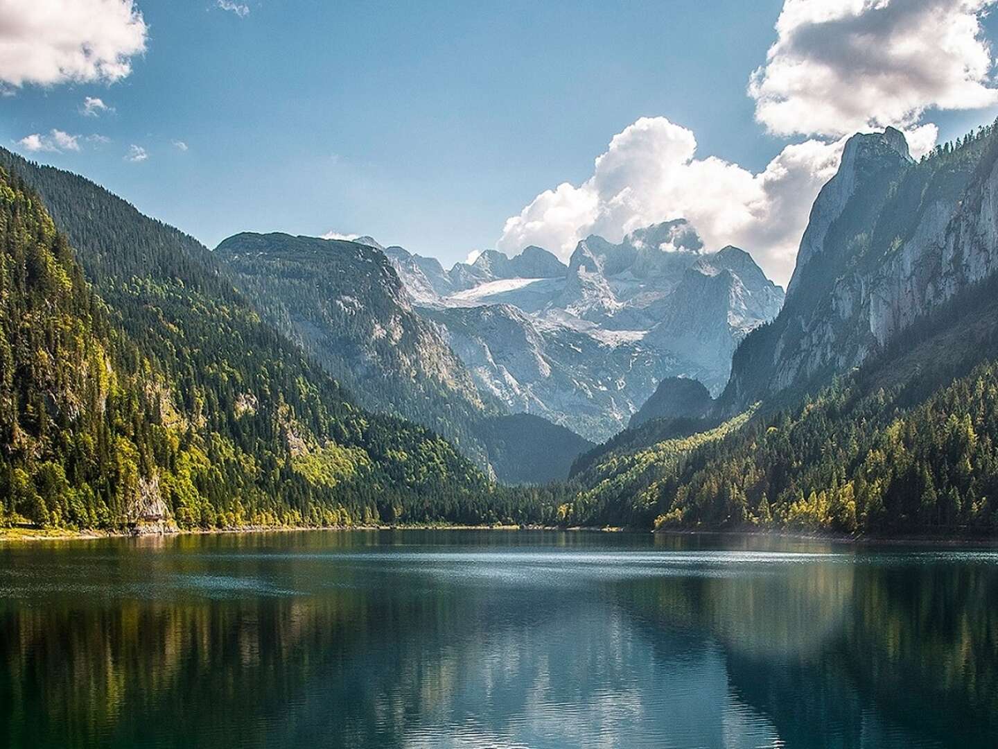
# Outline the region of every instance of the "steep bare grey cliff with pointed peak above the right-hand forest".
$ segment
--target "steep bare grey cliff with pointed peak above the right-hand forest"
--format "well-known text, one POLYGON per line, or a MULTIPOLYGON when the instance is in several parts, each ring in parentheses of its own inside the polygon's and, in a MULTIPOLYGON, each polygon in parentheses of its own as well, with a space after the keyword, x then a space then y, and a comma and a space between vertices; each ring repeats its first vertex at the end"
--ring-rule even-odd
POLYGON ((866 360, 996 266, 995 135, 919 163, 891 128, 849 140, 821 190, 782 311, 737 352, 727 410, 866 360))

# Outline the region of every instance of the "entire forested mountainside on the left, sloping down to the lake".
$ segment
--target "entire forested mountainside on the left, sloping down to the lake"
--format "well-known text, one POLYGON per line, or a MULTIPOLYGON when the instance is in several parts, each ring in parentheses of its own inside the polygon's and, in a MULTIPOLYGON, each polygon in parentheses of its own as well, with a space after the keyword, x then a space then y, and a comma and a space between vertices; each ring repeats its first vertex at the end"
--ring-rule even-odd
POLYGON ((182 527, 536 515, 426 428, 352 404, 191 237, 0 162, 5 521, 118 527, 159 499, 182 527))

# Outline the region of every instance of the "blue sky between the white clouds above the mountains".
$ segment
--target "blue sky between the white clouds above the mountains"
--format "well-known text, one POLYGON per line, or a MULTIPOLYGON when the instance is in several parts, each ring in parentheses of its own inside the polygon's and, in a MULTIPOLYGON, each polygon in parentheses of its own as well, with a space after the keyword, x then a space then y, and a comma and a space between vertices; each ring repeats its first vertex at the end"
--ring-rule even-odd
MULTIPOLYGON (((774 135, 755 119, 749 75, 777 40, 782 0, 227 4, 234 10, 139 0, 145 51, 126 56, 129 73, 14 81, 0 98, 0 141, 90 177, 210 247, 246 230, 332 230, 450 263, 500 238, 504 249, 534 234, 568 247, 593 226, 620 234, 668 213, 644 206, 617 224, 579 220, 561 234, 525 219, 529 231, 504 237, 507 219, 543 191, 590 179, 611 138, 642 117, 668 118, 695 134, 698 159, 750 174, 788 144, 839 135, 821 125, 774 135), (87 116, 85 97, 109 109, 87 116), (79 150, 59 148, 53 130, 77 136, 79 150), (30 151, 21 141, 32 134, 43 139, 34 146, 59 150, 30 151)), ((972 15, 991 36, 996 21, 972 15)), ((3 64, 0 54, 0 80, 3 64)), ((996 111, 987 95, 982 106, 945 112, 932 107, 938 92, 927 96, 927 113, 911 122, 931 120, 943 139, 996 111)), ((708 235, 720 243, 719 226, 708 235)))

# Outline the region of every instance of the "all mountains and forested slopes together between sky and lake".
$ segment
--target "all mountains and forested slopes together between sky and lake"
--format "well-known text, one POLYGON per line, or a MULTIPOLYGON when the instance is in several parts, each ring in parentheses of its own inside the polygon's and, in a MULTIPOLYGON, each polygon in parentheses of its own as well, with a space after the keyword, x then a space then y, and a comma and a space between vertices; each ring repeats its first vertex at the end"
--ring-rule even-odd
POLYGON ((852 137, 785 294, 684 219, 447 270, 0 167, 0 525, 998 526, 994 127, 852 137))

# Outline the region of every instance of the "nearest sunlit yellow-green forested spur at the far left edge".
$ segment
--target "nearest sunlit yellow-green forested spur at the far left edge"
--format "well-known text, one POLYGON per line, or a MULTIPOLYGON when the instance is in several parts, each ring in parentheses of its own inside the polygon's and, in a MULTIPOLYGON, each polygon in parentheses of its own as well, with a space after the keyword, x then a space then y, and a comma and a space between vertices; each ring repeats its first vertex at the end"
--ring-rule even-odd
POLYGON ((153 443, 175 417, 162 383, 90 293, 41 202, 3 171, 0 240, 0 523, 135 516, 153 443))

